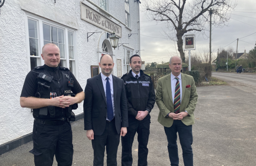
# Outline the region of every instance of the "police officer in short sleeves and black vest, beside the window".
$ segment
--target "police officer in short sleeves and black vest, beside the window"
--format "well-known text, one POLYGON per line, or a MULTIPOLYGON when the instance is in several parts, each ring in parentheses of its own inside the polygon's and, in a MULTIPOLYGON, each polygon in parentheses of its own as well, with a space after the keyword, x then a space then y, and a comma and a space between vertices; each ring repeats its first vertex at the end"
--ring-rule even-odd
POLYGON ((25 79, 20 95, 21 107, 33 109, 35 166, 71 166, 73 159, 72 109, 85 94, 68 68, 59 67, 60 49, 53 43, 43 46, 44 65, 35 67, 25 79))

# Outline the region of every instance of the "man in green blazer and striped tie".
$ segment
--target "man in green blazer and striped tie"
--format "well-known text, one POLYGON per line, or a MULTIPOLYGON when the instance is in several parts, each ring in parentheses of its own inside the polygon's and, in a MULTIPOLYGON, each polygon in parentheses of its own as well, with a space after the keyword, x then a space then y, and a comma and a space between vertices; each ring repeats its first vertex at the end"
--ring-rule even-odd
POLYGON ((195 81, 192 76, 181 73, 182 60, 171 57, 171 74, 159 78, 156 88, 156 104, 159 108, 158 122, 164 126, 168 141, 171 166, 179 166, 177 132, 180 138, 184 166, 193 166, 192 124, 197 103, 195 81))

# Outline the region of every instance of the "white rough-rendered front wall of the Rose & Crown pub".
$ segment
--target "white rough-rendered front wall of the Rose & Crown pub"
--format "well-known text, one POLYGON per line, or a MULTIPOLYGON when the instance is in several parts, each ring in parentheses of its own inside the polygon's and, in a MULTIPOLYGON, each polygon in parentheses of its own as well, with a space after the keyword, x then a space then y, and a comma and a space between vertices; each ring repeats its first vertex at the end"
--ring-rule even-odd
MULTIPOLYGON (((99 0, 93 0, 99 5, 99 0)), ((95 6, 86 0, 85 4, 102 14, 95 6)), ((125 23, 125 11, 123 0, 109 0, 109 13, 125 23)), ((27 57, 27 41, 25 30, 26 13, 34 14, 36 17, 48 19, 64 26, 76 29, 76 56, 77 56, 77 79, 85 89, 86 80, 91 77, 91 65, 99 63, 99 49, 102 43, 100 39, 106 38, 105 30, 102 30, 80 18, 79 0, 12 0, 5 1, 0 14, 0 144, 19 138, 32 132, 33 116, 31 109, 21 108, 19 98, 25 77, 29 71, 27 57), (95 33, 87 42, 88 32, 95 33)), ((109 17, 108 17, 109 18, 109 17)), ((138 33, 138 3, 130 1, 130 18, 132 31, 120 24, 113 18, 111 21, 122 27, 122 38, 119 43, 126 44, 127 47, 138 50, 138 35, 132 35, 128 39, 128 34, 138 33)), ((111 48, 109 48, 111 49, 111 48)), ((114 63, 116 59, 122 59, 123 46, 113 49, 114 63)), ((117 66, 114 66, 114 75, 117 75, 117 66)), ((122 73, 123 73, 122 65, 122 73)), ((83 112, 83 102, 74 110, 75 114, 83 112)))

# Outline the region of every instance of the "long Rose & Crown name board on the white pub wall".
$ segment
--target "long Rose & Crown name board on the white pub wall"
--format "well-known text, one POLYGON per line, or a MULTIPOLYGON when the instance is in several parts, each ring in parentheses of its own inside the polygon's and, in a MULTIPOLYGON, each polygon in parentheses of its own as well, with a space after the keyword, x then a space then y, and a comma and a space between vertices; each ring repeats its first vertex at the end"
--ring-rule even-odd
POLYGON ((80 2, 81 6, 81 19, 93 24, 103 30, 106 30, 109 33, 113 33, 118 37, 122 37, 122 28, 121 26, 117 25, 116 23, 112 22, 102 14, 98 13, 96 10, 92 9, 91 7, 85 5, 84 3, 80 2))

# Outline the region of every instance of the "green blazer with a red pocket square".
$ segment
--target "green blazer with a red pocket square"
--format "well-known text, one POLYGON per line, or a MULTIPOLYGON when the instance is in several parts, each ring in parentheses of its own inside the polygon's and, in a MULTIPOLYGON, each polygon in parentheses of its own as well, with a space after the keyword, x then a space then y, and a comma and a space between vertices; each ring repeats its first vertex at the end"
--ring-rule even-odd
MULTIPOLYGON (((188 112, 188 116, 184 117, 181 121, 185 125, 195 124, 194 110, 197 103, 197 92, 195 81, 192 76, 181 73, 182 83, 182 98, 180 104, 180 112, 185 110, 188 112), (190 88, 186 88, 186 85, 190 85, 190 88)), ((171 95, 171 74, 159 78, 155 93, 155 101, 159 108, 158 122, 165 127, 171 127, 173 119, 166 117, 168 113, 174 113, 173 101, 171 95)))

